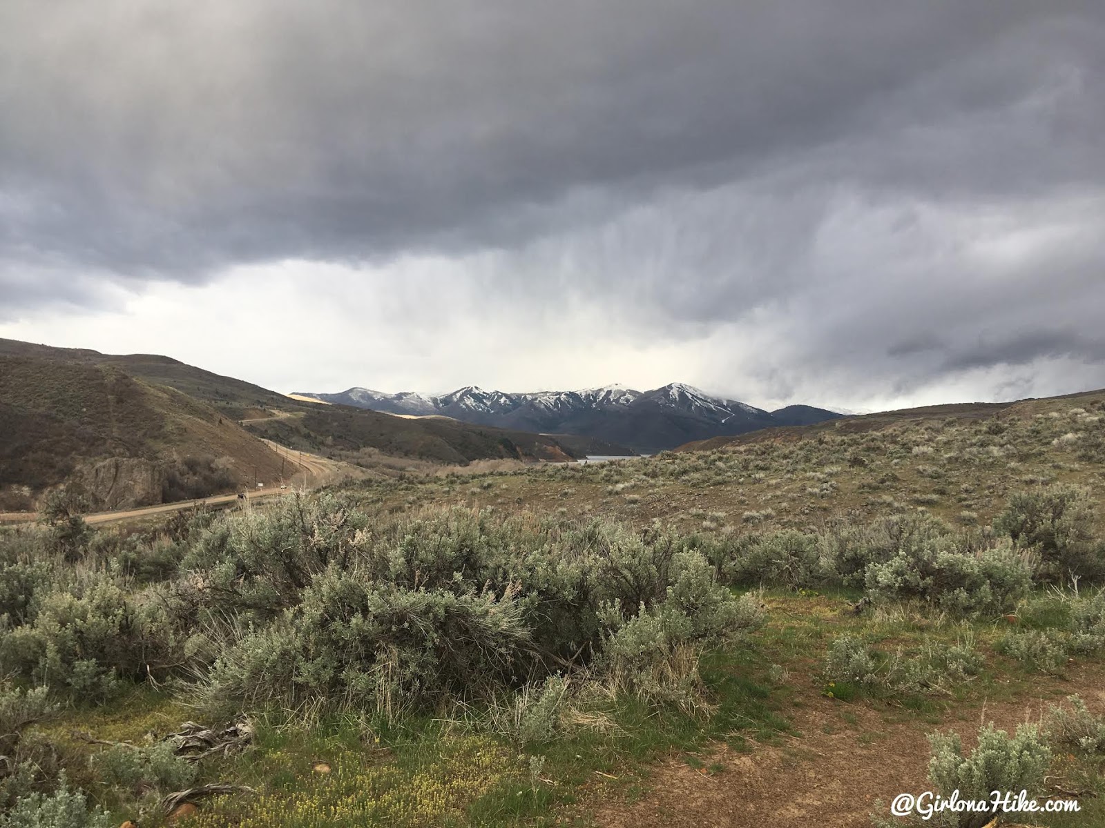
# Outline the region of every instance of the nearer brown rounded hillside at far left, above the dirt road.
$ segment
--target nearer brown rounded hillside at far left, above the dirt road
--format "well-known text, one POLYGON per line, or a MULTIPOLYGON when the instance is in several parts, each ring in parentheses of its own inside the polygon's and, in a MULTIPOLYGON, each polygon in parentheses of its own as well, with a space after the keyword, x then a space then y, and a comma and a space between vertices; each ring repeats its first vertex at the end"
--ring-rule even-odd
POLYGON ((280 461, 233 420, 116 367, 0 355, 0 509, 63 482, 88 509, 230 491, 280 461))

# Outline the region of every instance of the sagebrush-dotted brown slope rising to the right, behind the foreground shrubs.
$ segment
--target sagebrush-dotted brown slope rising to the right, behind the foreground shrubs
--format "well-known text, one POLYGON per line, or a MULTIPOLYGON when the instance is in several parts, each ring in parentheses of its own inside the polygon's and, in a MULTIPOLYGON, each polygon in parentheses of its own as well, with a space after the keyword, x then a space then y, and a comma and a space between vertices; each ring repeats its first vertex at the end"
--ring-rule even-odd
MULTIPOLYGON (((943 405, 693 443, 650 458, 503 474, 486 488, 380 487, 388 505, 508 506, 639 526, 740 532, 925 510, 985 526, 1010 491, 1060 482, 1105 497, 1105 391, 943 405)), ((413 485, 412 485, 413 486, 413 485)))

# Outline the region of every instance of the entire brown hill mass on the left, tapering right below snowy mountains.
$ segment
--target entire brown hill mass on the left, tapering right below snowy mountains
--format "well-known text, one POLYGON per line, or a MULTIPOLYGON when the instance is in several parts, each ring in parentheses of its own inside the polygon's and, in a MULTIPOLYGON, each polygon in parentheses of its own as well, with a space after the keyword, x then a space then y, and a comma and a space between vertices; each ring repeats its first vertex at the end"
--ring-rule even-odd
POLYGON ((30 508, 64 481, 80 482, 96 507, 116 508, 199 497, 190 492, 203 479, 218 490, 276 479, 281 464, 259 437, 367 466, 380 457, 463 465, 629 452, 295 400, 157 354, 0 339, 0 510, 30 508))

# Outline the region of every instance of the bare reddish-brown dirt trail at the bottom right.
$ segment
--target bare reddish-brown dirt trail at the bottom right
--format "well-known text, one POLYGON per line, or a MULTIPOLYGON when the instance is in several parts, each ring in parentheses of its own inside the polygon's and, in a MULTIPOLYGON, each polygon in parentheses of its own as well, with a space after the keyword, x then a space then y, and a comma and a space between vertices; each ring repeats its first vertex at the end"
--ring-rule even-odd
POLYGON ((621 796, 577 806, 603 828, 870 828, 875 803, 902 793, 920 794, 928 764, 926 734, 955 730, 974 746, 983 719, 1009 731, 1039 722, 1050 703, 1078 693, 1095 712, 1105 711, 1105 666, 1074 668, 1067 680, 1041 677, 1031 699, 968 704, 939 724, 916 713, 864 703, 843 704, 810 692, 793 711, 800 735, 750 753, 719 745, 711 756, 725 769, 706 775, 672 758, 653 768, 638 802, 621 796))

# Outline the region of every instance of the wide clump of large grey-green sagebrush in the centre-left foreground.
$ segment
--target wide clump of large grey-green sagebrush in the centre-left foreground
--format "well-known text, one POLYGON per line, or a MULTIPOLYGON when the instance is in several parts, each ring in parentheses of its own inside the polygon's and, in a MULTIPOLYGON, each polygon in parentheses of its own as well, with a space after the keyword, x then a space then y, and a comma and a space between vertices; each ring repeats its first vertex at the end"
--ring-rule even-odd
POLYGON ((585 666, 675 697, 696 671, 673 664, 758 617, 666 533, 470 510, 369 527, 326 497, 217 522, 181 567, 172 606, 215 639, 189 645, 219 654, 212 698, 286 707, 393 712, 585 666))

